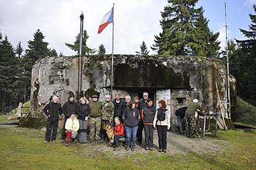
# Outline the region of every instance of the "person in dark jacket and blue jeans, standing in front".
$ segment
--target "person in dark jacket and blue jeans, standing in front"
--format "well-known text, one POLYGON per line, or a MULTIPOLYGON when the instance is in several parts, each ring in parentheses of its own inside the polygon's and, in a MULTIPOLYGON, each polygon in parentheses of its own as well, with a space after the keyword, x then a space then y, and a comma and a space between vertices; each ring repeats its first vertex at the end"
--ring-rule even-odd
POLYGON ((127 143, 126 150, 129 150, 129 148, 131 148, 131 150, 134 151, 136 146, 136 134, 138 130, 138 124, 140 123, 140 111, 135 108, 134 102, 129 102, 129 108, 124 111, 122 119, 125 125, 127 143))

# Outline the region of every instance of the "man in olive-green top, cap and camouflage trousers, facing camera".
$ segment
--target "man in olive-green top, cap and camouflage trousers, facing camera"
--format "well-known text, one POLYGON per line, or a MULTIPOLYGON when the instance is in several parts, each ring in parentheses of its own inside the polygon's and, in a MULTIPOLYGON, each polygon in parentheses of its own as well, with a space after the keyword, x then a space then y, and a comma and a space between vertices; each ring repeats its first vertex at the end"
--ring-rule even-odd
POLYGON ((92 95, 92 101, 89 102, 90 105, 90 134, 89 134, 89 143, 95 141, 95 143, 99 143, 99 134, 100 134, 100 123, 101 123, 101 116, 102 116, 102 104, 98 101, 97 95, 92 95))

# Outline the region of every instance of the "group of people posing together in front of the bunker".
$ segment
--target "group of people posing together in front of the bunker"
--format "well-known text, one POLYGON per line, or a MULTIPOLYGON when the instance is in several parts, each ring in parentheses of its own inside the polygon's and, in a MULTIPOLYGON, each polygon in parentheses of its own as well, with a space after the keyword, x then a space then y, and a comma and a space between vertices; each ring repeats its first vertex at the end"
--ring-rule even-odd
POLYGON ((120 94, 115 94, 111 101, 110 95, 105 96, 104 102, 99 102, 97 95, 92 95, 92 101, 85 97, 80 98, 79 103, 74 101, 71 93, 63 107, 58 103, 58 97, 52 97, 52 101, 45 105, 44 113, 48 117, 45 133, 45 143, 56 142, 58 120, 63 113, 65 115, 61 143, 66 146, 76 142, 79 143, 103 143, 108 140, 102 125, 114 125, 113 141, 114 150, 120 150, 120 139, 126 138, 126 150, 134 151, 136 145, 142 143, 143 129, 145 131, 145 150, 153 150, 154 128, 157 128, 159 150, 166 152, 167 130, 170 129, 170 111, 166 109, 166 102, 159 100, 159 108, 153 106, 154 101, 148 98, 148 93, 143 93, 143 98, 127 95, 125 100, 120 94), (51 135, 52 134, 52 135, 51 135), (77 137, 78 134, 78 137, 77 137), (87 137, 88 134, 88 137, 87 137))

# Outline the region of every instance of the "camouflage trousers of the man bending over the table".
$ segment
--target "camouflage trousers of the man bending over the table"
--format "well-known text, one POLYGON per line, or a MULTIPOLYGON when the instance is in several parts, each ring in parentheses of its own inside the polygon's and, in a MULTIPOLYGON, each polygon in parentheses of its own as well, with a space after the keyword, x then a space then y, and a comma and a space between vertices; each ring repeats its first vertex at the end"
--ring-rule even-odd
POLYGON ((191 115, 186 112, 185 114, 185 132, 187 137, 196 137, 196 118, 195 115, 191 115))

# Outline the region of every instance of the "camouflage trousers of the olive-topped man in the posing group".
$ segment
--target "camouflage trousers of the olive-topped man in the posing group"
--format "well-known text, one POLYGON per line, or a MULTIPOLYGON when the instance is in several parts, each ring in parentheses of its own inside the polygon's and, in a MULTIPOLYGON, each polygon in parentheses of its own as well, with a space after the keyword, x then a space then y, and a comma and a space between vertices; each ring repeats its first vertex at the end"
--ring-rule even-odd
POLYGON ((99 134, 100 134, 100 123, 101 123, 101 116, 97 118, 90 117, 89 127, 90 127, 90 134, 89 140, 99 142, 99 134))

